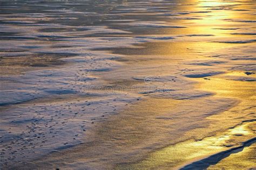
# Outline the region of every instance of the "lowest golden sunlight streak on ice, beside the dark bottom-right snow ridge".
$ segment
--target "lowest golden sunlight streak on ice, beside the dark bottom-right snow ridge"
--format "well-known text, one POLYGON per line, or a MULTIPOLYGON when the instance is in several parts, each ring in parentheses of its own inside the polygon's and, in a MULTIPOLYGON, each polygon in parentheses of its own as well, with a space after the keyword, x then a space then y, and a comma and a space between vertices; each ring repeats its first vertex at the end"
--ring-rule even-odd
MULTIPOLYGON (((251 128, 249 128, 252 125, 255 126, 256 124, 254 122, 244 123, 215 137, 204 138, 199 141, 190 140, 165 147, 164 149, 150 154, 150 157, 145 160, 131 165, 130 168, 182 167, 187 160, 202 159, 209 154, 225 151, 232 146, 240 145, 237 143, 238 141, 242 142, 246 139, 253 138, 254 133, 251 128)), ((252 162, 251 165, 253 165, 252 162)))

